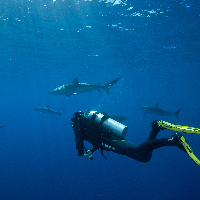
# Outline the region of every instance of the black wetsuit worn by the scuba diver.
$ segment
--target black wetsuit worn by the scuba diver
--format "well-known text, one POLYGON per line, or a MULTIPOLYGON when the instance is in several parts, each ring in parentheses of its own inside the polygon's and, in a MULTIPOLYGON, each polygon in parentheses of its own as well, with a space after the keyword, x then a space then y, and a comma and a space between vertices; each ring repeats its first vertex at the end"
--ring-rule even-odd
POLYGON ((76 149, 78 156, 83 156, 84 140, 93 145, 91 152, 97 149, 112 151, 118 154, 126 155, 141 162, 149 162, 154 149, 163 146, 175 146, 169 139, 156 139, 160 127, 156 123, 152 123, 152 130, 149 138, 140 145, 133 144, 125 138, 108 131, 102 125, 90 122, 85 117, 79 118, 72 126, 75 133, 76 149))

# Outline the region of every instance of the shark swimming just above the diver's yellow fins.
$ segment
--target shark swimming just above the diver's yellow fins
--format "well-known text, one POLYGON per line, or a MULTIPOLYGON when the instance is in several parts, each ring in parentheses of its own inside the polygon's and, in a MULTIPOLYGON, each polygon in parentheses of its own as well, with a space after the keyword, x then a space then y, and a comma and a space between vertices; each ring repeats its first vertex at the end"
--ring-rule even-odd
POLYGON ((168 112, 159 108, 158 103, 155 106, 143 106, 141 107, 141 109, 145 111, 144 114, 150 113, 150 114, 161 115, 161 116, 176 116, 177 119, 178 119, 179 112, 181 110, 180 108, 175 113, 168 112))

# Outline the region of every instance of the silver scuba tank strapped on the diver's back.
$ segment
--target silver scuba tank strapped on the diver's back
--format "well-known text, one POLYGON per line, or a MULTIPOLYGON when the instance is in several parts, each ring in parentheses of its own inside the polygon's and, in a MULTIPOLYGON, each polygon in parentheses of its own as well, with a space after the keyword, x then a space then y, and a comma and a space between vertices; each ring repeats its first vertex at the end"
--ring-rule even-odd
POLYGON ((115 121, 108 115, 99 113, 97 111, 86 112, 84 116, 92 122, 96 122, 102 125, 104 128, 118 135, 121 138, 124 138, 128 130, 127 126, 115 121))

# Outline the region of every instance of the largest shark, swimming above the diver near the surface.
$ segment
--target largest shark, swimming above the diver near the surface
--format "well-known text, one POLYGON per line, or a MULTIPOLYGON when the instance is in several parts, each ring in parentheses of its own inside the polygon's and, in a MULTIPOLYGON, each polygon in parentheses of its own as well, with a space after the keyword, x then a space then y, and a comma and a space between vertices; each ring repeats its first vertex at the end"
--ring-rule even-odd
POLYGON ((70 97, 70 95, 76 95, 76 94, 81 94, 85 92, 92 92, 94 90, 100 91, 101 89, 105 90, 107 94, 110 94, 110 88, 117 83, 117 81, 121 77, 111 81, 110 83, 107 83, 104 86, 101 85, 93 85, 93 84, 88 84, 88 83, 80 83, 78 81, 78 77, 74 79, 74 81, 70 84, 67 85, 62 85, 52 91, 49 92, 49 94, 54 94, 54 95, 65 95, 67 97, 70 97))

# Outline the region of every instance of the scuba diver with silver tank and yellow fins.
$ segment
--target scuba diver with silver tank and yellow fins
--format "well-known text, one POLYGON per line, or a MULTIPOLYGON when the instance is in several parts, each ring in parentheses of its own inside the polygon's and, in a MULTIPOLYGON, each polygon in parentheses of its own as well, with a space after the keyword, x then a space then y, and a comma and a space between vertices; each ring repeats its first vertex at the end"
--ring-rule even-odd
MULTIPOLYGON (((200 129, 181 125, 174 125, 165 121, 153 121, 152 130, 148 139, 139 144, 133 144, 127 141, 124 136, 128 127, 113 120, 105 113, 97 111, 88 111, 83 113, 77 111, 71 118, 73 122, 72 128, 75 134, 76 149, 78 156, 87 157, 93 160, 92 153, 100 149, 103 157, 103 151, 112 151, 117 154, 126 155, 137 161, 146 163, 151 160, 152 153, 155 149, 164 146, 176 146, 200 165, 200 161, 193 154, 192 149, 186 142, 185 138, 179 132, 187 132, 199 134, 200 129), (178 131, 169 138, 156 139, 160 130, 170 129, 178 131), (193 132, 191 132, 193 131, 193 132), (84 146, 84 140, 93 145, 91 150, 87 150, 84 146)), ((105 157, 106 158, 106 157, 105 157)))

